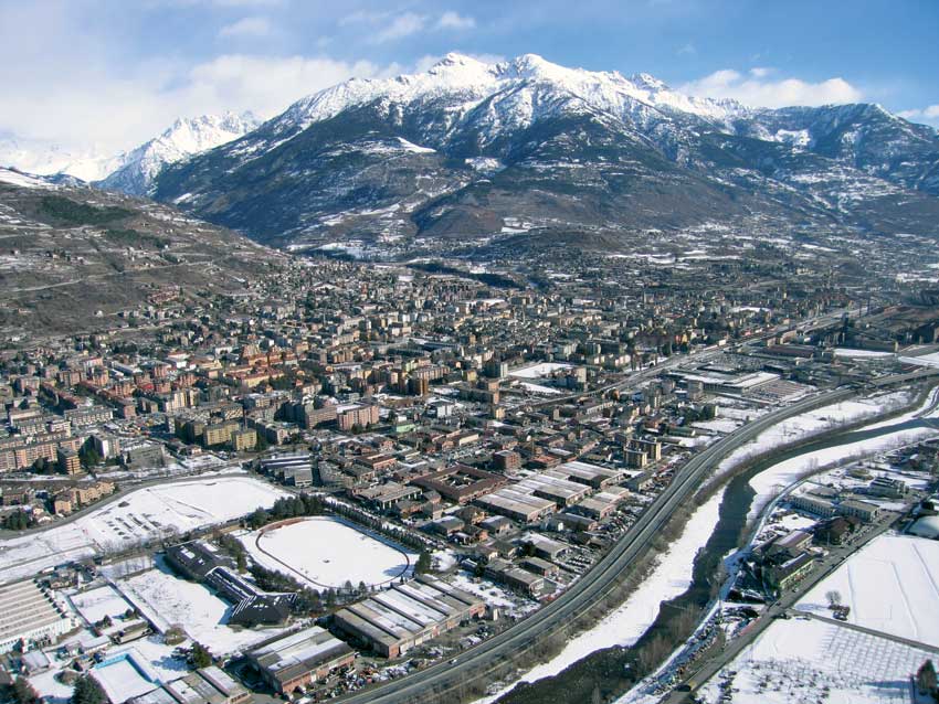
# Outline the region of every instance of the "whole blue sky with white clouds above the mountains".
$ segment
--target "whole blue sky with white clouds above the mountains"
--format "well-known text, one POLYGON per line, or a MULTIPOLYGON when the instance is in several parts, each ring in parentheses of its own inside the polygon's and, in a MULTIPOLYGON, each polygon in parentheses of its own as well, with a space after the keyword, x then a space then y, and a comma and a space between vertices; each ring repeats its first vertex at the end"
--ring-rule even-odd
POLYGON ((939 126, 937 29, 933 0, 0 0, 0 137, 126 149, 178 116, 271 117, 449 51, 939 126))

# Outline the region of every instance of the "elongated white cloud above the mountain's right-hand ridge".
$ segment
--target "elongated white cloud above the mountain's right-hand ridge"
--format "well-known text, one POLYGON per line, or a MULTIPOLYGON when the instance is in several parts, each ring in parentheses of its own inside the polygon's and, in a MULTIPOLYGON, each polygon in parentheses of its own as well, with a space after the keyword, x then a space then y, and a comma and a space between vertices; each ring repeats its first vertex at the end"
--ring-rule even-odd
POLYGON ((692 81, 679 89, 690 95, 710 98, 732 98, 745 105, 784 107, 790 105, 830 105, 857 103, 864 94, 841 77, 811 83, 800 78, 768 81, 772 71, 753 68, 748 76, 725 68, 692 81))

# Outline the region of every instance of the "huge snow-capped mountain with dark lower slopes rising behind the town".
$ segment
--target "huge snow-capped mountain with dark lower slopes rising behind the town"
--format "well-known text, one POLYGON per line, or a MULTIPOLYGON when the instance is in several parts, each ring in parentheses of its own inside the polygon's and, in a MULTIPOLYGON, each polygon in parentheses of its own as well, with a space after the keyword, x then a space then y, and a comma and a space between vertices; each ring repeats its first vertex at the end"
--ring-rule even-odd
POLYGON ((154 194, 278 244, 761 218, 929 230, 939 137, 872 105, 755 109, 647 74, 449 54, 170 166, 154 194))

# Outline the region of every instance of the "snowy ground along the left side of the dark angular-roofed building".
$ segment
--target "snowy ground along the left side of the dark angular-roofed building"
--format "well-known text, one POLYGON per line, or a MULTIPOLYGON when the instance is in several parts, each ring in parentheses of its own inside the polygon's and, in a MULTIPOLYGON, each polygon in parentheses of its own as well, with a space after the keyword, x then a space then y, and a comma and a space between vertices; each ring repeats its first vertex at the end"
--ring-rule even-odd
POLYGON ((161 630, 179 625, 213 654, 225 654, 270 638, 284 629, 242 629, 228 626, 231 607, 211 589, 178 579, 160 564, 118 583, 118 587, 161 630))

